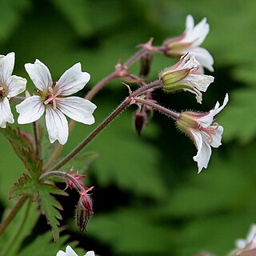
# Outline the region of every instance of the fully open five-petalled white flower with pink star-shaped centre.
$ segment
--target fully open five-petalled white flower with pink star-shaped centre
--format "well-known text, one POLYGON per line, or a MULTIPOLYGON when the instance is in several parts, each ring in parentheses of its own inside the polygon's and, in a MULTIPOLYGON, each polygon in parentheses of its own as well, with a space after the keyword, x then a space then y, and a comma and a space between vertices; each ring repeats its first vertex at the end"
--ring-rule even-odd
POLYGON ((26 98, 16 106, 20 114, 19 124, 35 122, 46 111, 46 128, 50 142, 58 140, 63 145, 68 138, 68 122, 64 114, 77 122, 87 125, 94 123, 93 112, 96 106, 92 102, 79 97, 63 98, 82 90, 90 80, 90 74, 82 72, 80 63, 66 70, 57 82, 52 81, 47 66, 39 60, 34 64, 27 63, 25 68, 38 88, 38 95, 26 98))

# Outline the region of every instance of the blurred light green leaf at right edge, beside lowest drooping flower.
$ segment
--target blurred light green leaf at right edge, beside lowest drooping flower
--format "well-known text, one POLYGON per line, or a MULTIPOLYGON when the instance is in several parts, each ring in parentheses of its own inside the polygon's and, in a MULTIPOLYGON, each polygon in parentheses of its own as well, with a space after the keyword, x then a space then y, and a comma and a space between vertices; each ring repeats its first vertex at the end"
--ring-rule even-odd
POLYGON ((220 114, 218 123, 224 126, 223 140, 238 139, 246 144, 256 135, 256 90, 244 88, 230 94, 230 102, 220 114))

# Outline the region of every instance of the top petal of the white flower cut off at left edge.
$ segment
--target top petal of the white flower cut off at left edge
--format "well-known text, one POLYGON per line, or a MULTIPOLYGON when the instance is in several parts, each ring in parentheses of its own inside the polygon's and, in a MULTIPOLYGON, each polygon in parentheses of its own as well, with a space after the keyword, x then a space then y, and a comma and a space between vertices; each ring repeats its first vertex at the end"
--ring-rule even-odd
POLYGON ((0 55, 0 82, 6 83, 14 70, 15 54, 0 55))

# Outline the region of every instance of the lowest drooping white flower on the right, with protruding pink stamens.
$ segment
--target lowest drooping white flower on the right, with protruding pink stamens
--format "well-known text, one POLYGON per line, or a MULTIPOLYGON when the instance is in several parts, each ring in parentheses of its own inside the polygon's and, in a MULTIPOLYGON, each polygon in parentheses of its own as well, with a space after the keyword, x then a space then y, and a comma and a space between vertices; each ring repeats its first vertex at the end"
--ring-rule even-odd
POLYGON ((208 166, 211 146, 217 148, 222 145, 223 127, 214 122, 214 116, 226 106, 228 100, 228 94, 226 94, 222 106, 217 102, 214 109, 207 113, 185 111, 179 114, 176 121, 178 127, 189 134, 198 149, 198 154, 193 158, 195 162, 198 162, 198 173, 201 172, 202 168, 208 166))

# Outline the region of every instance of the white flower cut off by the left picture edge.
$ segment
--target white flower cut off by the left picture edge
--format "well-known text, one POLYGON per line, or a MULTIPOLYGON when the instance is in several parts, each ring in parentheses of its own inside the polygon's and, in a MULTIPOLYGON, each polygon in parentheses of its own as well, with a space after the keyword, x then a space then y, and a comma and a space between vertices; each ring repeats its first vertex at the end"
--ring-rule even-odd
POLYGON ((15 54, 0 55, 0 127, 6 128, 6 122, 14 123, 9 98, 26 90, 26 79, 11 75, 14 70, 15 54))

